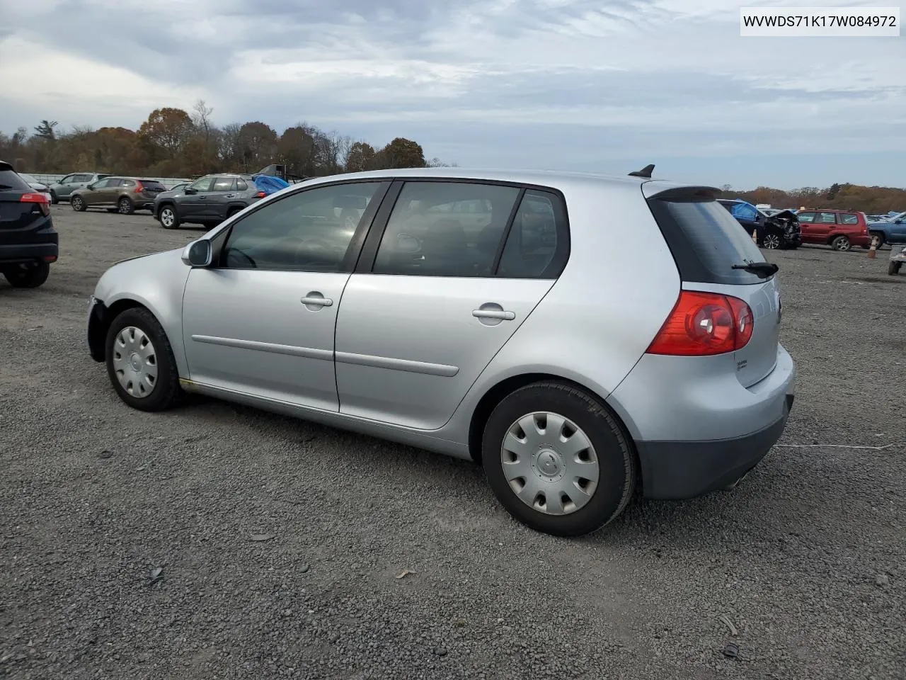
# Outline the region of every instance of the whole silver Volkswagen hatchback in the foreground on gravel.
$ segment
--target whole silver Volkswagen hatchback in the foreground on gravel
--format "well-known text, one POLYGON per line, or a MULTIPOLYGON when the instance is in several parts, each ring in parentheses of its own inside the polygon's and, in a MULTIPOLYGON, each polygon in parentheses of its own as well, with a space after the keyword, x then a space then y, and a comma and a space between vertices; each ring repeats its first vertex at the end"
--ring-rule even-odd
POLYGON ((517 520, 581 535, 638 488, 734 486, 784 430, 777 267, 717 195, 458 168, 309 180, 111 267, 88 345, 134 408, 204 393, 480 461, 517 520))

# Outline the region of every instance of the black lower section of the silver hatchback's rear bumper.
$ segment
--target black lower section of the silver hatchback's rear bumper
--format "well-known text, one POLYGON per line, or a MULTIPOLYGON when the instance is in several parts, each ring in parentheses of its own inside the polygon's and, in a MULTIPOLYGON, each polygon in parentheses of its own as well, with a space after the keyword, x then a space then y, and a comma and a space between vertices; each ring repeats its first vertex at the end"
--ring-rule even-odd
POLYGON ((737 481, 780 439, 793 406, 776 423, 744 437, 712 442, 636 442, 646 498, 683 500, 717 491, 737 481))

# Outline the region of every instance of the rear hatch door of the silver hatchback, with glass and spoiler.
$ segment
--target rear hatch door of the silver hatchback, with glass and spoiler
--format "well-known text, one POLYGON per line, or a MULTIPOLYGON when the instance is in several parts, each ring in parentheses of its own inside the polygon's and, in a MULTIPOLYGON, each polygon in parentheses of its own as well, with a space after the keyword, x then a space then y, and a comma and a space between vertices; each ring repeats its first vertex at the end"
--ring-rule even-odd
POLYGON ((715 200, 719 189, 658 191, 657 184, 646 183, 643 191, 677 262, 682 287, 734 296, 752 310, 752 337, 734 358, 739 382, 756 384, 774 370, 777 360, 781 302, 776 274, 758 267, 768 263, 752 237, 715 200), (747 265, 755 267, 734 268, 747 265))

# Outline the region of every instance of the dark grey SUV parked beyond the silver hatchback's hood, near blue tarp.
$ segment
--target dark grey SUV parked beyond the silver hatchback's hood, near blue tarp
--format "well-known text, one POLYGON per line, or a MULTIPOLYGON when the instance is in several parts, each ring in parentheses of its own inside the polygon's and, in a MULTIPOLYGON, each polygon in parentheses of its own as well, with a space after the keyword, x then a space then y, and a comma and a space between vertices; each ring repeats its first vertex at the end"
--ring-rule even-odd
POLYGON ((169 191, 168 195, 161 195, 152 211, 154 219, 165 229, 175 229, 183 223, 213 227, 265 195, 265 191, 255 186, 251 175, 205 175, 178 193, 169 191))

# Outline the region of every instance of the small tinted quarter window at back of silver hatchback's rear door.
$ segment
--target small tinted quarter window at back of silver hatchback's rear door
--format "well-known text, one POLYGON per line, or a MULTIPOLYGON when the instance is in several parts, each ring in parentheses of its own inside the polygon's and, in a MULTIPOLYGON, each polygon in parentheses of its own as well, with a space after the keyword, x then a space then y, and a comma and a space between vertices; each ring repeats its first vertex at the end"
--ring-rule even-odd
POLYGON ((528 189, 506 237, 497 276, 555 278, 569 256, 563 200, 546 191, 528 189))

